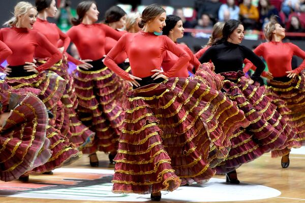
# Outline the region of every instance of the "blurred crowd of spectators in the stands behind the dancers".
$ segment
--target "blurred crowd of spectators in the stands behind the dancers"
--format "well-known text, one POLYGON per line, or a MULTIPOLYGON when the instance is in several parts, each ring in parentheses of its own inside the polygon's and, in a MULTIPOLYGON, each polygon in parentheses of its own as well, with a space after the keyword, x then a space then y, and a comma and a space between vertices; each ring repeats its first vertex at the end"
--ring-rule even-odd
MULTIPOLYGON (((137 2, 140 4, 140 1, 137 2)), ((75 9, 71 9, 70 4, 70 0, 62 0, 56 14, 57 23, 64 32, 71 26, 69 20, 76 15, 75 9)), ((141 9, 144 9, 143 6, 130 5, 130 11, 127 11, 129 7, 123 6, 127 13, 130 11, 141 13, 141 9)), ((164 7, 170 6, 165 5, 164 7)), ((245 30, 262 31, 264 24, 270 18, 276 18, 286 28, 286 32, 304 34, 288 34, 287 39, 305 39, 305 0, 196 0, 193 8, 186 10, 187 8, 167 9, 167 11, 172 11, 167 14, 174 14, 182 19, 184 28, 202 30, 193 33, 186 32, 186 36, 209 38, 212 26, 216 22, 230 19, 240 20, 245 30)))

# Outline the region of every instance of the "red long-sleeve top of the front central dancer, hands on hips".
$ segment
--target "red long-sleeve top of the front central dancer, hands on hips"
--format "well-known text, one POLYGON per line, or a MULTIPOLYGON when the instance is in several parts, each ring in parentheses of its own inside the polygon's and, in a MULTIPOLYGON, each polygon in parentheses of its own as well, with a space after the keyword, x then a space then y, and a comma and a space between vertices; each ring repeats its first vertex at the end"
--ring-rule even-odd
POLYGON ((172 77, 191 57, 167 36, 156 36, 154 33, 143 32, 142 30, 137 33, 126 33, 121 37, 107 54, 104 63, 122 78, 131 80, 129 74, 121 70, 114 62, 114 58, 125 51, 129 58, 133 75, 145 78, 154 74, 151 72, 152 70, 161 70, 162 53, 166 50, 179 57, 171 69, 164 72, 165 76, 172 77))

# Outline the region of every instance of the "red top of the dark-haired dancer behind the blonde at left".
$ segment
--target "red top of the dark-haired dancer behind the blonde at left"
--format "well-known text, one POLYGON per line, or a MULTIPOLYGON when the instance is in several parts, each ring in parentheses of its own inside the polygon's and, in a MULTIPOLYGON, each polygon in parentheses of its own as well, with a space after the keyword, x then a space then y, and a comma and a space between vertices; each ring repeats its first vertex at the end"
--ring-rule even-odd
MULTIPOLYGON (((68 49, 71 40, 64 32, 62 32, 57 27, 55 23, 49 23, 47 20, 37 18, 37 21, 34 23, 33 29, 38 30, 40 33, 42 33, 55 47, 58 47, 58 41, 62 40, 63 45, 60 47, 64 47, 64 52, 66 52, 66 50, 68 49)), ((48 52, 44 48, 44 46, 37 47, 35 50, 35 57, 47 58, 50 56, 50 52, 48 52)))

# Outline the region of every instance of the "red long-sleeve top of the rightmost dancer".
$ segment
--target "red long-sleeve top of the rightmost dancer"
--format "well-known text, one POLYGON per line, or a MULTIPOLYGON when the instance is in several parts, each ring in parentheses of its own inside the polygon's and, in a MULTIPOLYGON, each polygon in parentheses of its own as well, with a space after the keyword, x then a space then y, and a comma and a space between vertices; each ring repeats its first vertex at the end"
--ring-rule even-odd
MULTIPOLYGON (((256 47, 254 53, 266 60, 269 72, 276 78, 284 77, 287 75, 286 71, 292 70, 291 59, 293 55, 303 59, 303 62, 293 70, 293 73, 299 74, 305 69, 305 52, 292 43, 265 42, 256 47)), ((254 70, 255 68, 253 67, 254 70)))

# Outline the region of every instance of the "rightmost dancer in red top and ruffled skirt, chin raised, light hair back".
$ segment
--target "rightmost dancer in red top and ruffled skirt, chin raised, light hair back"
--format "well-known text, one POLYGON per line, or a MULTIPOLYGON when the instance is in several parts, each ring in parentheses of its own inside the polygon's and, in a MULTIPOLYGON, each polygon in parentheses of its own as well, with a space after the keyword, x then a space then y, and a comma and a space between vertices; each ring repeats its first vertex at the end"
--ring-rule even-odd
POLYGON ((273 157, 282 156, 282 167, 287 168, 290 148, 305 144, 305 52, 292 43, 282 42, 285 38, 285 28, 275 20, 265 25, 264 32, 269 42, 259 45, 254 53, 264 57, 271 73, 268 77, 267 95, 273 98, 273 102, 283 111, 282 115, 285 115, 287 122, 295 129, 295 137, 290 140, 291 145, 286 149, 272 152, 273 157), (304 59, 295 70, 291 68, 293 55, 304 59), (278 97, 287 104, 283 105, 278 97), (290 111, 285 111, 283 107, 290 111))

